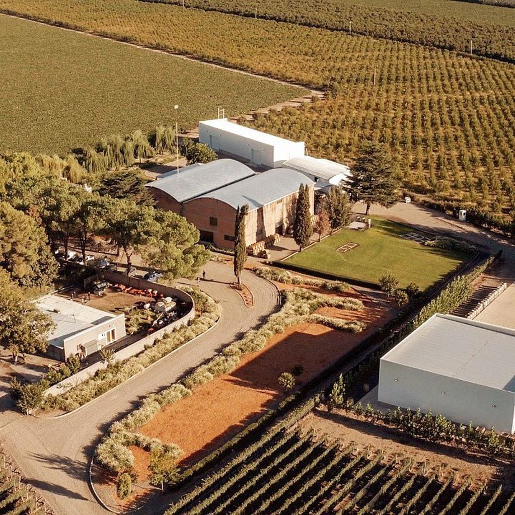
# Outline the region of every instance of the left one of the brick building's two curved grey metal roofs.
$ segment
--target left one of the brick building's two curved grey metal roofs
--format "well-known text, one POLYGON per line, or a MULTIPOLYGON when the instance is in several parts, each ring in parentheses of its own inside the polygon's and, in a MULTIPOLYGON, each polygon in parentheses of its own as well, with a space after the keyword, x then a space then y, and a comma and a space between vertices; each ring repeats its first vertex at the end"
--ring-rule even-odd
POLYGON ((185 202, 254 174, 243 163, 233 159, 217 159, 211 163, 179 168, 178 173, 168 172, 166 177, 146 186, 161 190, 178 202, 185 202))

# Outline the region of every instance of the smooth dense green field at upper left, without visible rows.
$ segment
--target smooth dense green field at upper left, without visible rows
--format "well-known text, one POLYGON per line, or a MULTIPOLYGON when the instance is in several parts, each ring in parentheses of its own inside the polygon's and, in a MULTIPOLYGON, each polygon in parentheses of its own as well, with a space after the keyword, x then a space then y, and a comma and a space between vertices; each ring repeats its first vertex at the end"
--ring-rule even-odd
POLYGON ((66 152, 111 133, 246 113, 306 90, 0 15, 0 151, 66 152))

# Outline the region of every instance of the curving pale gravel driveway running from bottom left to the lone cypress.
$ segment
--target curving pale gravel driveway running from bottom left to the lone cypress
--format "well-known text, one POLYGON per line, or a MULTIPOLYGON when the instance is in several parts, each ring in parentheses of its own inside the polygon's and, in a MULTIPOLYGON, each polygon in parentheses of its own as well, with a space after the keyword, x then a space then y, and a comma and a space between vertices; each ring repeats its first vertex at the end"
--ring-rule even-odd
POLYGON ((243 276, 254 295, 254 307, 249 309, 228 285, 233 279, 231 266, 210 262, 205 270, 208 280, 201 281, 200 286, 222 305, 220 323, 141 375, 75 413, 57 419, 26 417, 8 410, 10 400, 5 390, 0 389, 0 436, 6 441, 5 447, 28 482, 40 490, 57 514, 107 513, 95 501, 87 482, 87 467, 100 435, 138 400, 173 383, 276 309, 276 288, 251 272, 245 271, 243 276))

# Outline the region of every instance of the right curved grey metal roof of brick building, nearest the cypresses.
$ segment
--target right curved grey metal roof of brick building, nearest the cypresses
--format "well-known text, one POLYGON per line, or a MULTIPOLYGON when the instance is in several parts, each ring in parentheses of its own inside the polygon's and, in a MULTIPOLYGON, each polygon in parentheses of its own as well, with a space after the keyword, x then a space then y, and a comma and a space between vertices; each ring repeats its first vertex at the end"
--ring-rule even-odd
POLYGON ((220 200, 234 209, 248 204, 249 211, 253 211, 297 192, 301 184, 312 185, 315 183, 300 171, 289 168, 272 168, 198 198, 220 200))

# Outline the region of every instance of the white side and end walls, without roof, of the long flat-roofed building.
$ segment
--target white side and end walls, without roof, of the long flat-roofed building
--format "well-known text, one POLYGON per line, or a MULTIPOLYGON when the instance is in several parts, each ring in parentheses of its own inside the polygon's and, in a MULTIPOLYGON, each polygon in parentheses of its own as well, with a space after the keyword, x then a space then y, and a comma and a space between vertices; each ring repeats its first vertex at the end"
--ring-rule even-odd
POLYGON ((304 156, 304 142, 284 141, 278 145, 268 145, 202 123, 198 125, 198 132, 200 143, 205 143, 214 150, 270 168, 281 166, 288 159, 304 156))

